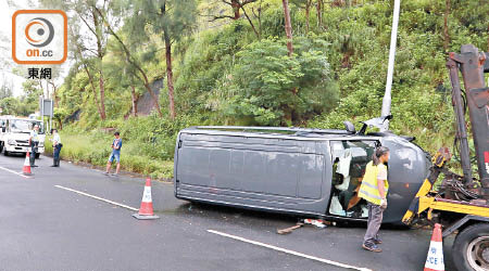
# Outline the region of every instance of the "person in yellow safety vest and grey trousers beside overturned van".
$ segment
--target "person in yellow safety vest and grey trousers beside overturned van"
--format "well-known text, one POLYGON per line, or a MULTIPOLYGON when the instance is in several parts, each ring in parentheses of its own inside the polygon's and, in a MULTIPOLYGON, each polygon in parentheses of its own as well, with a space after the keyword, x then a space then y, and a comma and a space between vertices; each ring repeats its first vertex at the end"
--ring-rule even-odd
POLYGON ((383 222, 383 212, 387 209, 389 183, 387 182, 386 163, 388 160, 389 149, 377 147, 372 156, 372 162, 366 166, 359 191, 359 196, 367 201, 368 206, 368 224, 362 247, 375 253, 383 250, 378 247, 378 244, 383 243, 378 236, 378 230, 383 222))

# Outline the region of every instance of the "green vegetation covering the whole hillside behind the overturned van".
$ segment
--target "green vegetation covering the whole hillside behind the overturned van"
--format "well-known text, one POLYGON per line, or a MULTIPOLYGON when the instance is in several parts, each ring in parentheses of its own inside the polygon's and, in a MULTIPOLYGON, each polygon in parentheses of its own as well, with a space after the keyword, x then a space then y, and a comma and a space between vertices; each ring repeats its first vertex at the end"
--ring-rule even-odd
MULTIPOLYGON (((175 137, 188 126, 342 129, 343 120, 358 125, 380 115, 393 1, 321 1, 317 12, 316 0, 290 0, 290 56, 283 3, 278 0, 251 1, 242 8, 247 16, 240 14, 238 20, 218 18, 233 15, 223 1, 166 1, 174 8, 168 9, 174 13, 166 22, 185 22, 173 30, 152 26, 151 20, 158 18, 150 16, 146 17, 146 26, 138 28, 141 26, 128 15, 130 7, 124 12, 123 2, 100 13, 105 14, 108 25, 110 16, 124 23, 113 29, 104 26, 104 55, 75 55, 70 75, 53 93, 59 125, 82 111, 79 120, 63 125, 64 137, 85 137, 65 144, 65 157, 78 155, 82 160, 104 164, 111 134, 102 128, 116 128, 130 145, 123 151, 123 166, 171 177, 171 170, 158 165, 172 160, 175 137), (179 7, 184 2, 195 7, 179 7), (171 39, 165 39, 165 34, 171 39), (168 40, 172 70, 166 59, 168 40), (137 66, 150 82, 164 78, 165 89, 158 100, 161 115, 153 111, 150 116, 133 116, 133 100, 149 91, 137 66), (104 119, 99 106, 100 70, 104 119), (170 72, 172 86, 167 83, 170 72), (87 144, 87 150, 75 154, 70 149, 78 141, 87 144), (130 162, 133 156, 137 158, 130 162), (154 167, 145 166, 147 162, 154 163, 154 167)), ((86 8, 91 9, 89 4, 86 8)), ((460 51, 465 43, 489 51, 488 22, 489 5, 484 0, 402 1, 392 83, 392 131, 415 136, 417 144, 429 152, 441 145, 452 146, 447 52, 460 51)))

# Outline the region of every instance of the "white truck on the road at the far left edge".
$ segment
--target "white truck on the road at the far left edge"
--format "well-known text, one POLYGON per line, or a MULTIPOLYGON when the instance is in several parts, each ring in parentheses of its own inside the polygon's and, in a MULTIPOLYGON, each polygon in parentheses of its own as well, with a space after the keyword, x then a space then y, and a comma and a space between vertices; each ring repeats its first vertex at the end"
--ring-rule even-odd
POLYGON ((5 156, 11 153, 30 152, 29 138, 35 125, 39 126, 39 145, 36 158, 45 152, 45 127, 42 121, 12 116, 0 116, 0 153, 5 156))

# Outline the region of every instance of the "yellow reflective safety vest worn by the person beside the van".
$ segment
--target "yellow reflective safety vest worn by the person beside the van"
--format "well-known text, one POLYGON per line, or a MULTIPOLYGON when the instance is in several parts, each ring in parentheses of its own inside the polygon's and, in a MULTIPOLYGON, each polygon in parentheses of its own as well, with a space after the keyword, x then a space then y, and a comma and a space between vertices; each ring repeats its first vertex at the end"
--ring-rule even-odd
MULTIPOLYGON (((363 177, 362 185, 360 185, 359 196, 365 198, 365 201, 371 202, 376 205, 380 205, 380 201, 383 199, 380 196, 380 192, 378 192, 377 186, 377 176, 379 167, 386 167, 384 164, 379 164, 374 166, 374 163, 371 162, 367 164, 365 169, 365 176, 363 177)), ((386 168, 387 170, 387 168, 386 168)), ((387 191, 389 190, 389 183, 387 180, 384 182, 384 191, 387 195, 387 191)))

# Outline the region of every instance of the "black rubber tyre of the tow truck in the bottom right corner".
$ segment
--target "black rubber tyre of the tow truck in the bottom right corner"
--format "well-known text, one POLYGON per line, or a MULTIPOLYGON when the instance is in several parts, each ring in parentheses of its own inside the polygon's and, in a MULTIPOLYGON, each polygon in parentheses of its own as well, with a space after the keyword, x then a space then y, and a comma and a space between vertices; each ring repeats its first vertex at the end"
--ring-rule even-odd
MULTIPOLYGON (((459 271, 476 270, 475 267, 478 267, 478 270, 486 270, 484 267, 487 267, 487 262, 477 263, 479 259, 474 260, 474 256, 468 256, 469 250, 472 250, 471 247, 473 247, 472 243, 476 242, 477 238, 482 238, 480 242, 484 242, 485 244, 489 242, 489 223, 482 222, 469 225, 456 235, 456 238, 453 242, 452 257, 453 263, 459 271), (469 258, 472 258, 472 260, 469 260, 469 258), (471 266, 471 261, 475 267, 471 266), (479 264, 486 266, 479 267, 479 264)), ((475 258, 477 258, 477 256, 475 258)))

